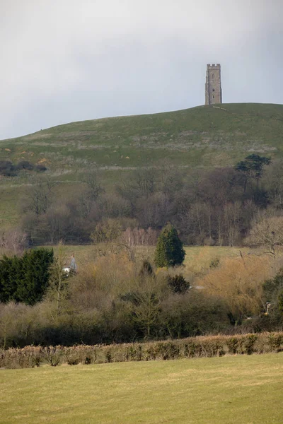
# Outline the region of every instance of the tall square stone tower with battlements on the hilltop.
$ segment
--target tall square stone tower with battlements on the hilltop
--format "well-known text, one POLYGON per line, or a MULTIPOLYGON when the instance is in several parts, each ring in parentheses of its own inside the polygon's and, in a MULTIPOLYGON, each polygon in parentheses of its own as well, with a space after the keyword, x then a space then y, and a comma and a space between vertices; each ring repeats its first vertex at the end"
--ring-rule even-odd
POLYGON ((222 103, 221 66, 207 65, 207 81, 205 83, 205 104, 222 103))

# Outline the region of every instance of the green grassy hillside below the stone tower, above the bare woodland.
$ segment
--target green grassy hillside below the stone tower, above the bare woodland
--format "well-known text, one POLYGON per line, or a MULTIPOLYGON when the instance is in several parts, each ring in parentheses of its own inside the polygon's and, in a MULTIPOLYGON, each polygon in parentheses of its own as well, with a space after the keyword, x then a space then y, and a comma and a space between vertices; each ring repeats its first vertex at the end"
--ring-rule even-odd
MULTIPOLYGON (((283 105, 229 104, 54 126, 0 141, 0 160, 44 164, 61 182, 59 192, 66 192, 66 184, 76 189, 94 163, 112 187, 125 172, 158 166, 164 159, 185 171, 234 165, 249 153, 282 157, 282 141, 283 105)), ((30 184, 26 172, 0 179, 2 223, 18 219, 25 184, 30 184)))

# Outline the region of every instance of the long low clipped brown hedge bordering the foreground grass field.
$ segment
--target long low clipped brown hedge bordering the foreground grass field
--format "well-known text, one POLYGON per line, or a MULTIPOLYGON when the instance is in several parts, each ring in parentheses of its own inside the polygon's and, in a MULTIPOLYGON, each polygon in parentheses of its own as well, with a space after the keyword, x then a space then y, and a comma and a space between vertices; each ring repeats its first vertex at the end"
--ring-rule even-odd
POLYGON ((197 336, 176 340, 112 345, 25 346, 0 349, 1 368, 29 368, 50 364, 78 365, 141 360, 212 358, 283 351, 283 331, 233 336, 197 336))

